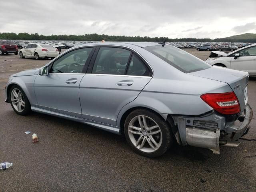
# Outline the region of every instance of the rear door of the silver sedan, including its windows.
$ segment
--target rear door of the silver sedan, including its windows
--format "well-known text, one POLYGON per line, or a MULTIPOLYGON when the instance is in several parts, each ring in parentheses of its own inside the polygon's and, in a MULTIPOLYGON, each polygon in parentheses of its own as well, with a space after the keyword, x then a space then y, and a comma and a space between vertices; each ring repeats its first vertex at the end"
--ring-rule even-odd
POLYGON ((122 107, 140 94, 152 71, 124 47, 102 46, 96 52, 80 83, 82 118, 115 126, 122 107))

